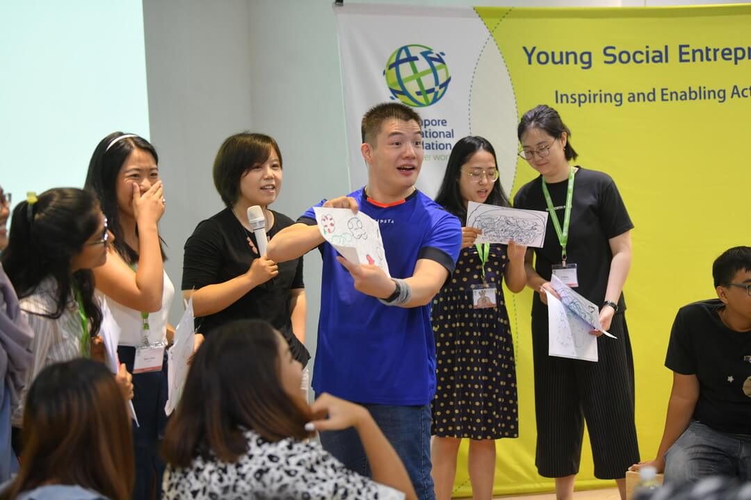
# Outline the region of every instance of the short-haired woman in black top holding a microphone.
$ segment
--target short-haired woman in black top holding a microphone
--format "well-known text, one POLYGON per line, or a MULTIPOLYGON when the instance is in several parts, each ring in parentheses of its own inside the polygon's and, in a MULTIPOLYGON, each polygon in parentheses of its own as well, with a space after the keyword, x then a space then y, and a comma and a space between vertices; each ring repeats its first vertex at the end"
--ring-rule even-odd
POLYGON ((182 296, 193 298, 205 335, 236 319, 264 319, 279 330, 297 361, 307 363, 303 259, 277 264, 258 255, 247 210, 261 207, 268 238, 293 221, 268 206, 282 188, 282 154, 261 133, 228 137, 216 154, 214 185, 227 208, 201 221, 185 242, 182 296))

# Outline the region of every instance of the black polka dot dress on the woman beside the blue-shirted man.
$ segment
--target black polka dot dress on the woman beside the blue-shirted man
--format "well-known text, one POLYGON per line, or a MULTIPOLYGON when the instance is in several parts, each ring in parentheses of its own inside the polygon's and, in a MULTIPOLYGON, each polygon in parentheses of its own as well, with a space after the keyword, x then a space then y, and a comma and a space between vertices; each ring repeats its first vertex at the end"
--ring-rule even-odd
POLYGON ((499 439, 519 436, 514 343, 503 298, 506 247, 490 245, 485 280, 496 287, 497 307, 472 307, 482 283, 480 257, 462 250, 451 280, 433 299, 436 396, 433 436, 499 439))

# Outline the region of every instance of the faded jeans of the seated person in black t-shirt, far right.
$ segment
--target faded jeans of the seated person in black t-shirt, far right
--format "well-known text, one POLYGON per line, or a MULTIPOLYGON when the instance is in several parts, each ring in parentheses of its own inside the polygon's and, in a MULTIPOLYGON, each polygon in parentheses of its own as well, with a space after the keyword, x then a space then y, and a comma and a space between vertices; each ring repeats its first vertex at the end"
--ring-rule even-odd
POLYGON ((693 421, 665 454, 665 483, 720 475, 751 481, 751 436, 720 433, 693 421))

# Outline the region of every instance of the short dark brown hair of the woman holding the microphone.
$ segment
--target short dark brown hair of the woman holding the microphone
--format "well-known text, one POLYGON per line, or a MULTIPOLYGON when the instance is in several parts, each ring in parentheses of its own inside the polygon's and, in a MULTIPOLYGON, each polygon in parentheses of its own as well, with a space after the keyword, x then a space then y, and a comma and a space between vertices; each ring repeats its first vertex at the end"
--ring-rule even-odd
POLYGON ((236 133, 219 146, 214 159, 214 187, 228 208, 232 208, 240 197, 240 178, 252 166, 268 160, 272 148, 279 157, 279 166, 282 166, 279 145, 263 133, 236 133))

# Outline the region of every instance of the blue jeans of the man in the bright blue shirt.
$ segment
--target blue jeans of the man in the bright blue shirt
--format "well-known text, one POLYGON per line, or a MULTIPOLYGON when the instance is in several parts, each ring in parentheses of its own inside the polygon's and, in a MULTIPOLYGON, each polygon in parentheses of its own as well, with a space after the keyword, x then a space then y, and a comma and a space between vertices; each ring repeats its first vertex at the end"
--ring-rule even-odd
MULTIPOLYGON (((363 404, 363 407, 402 459, 418 499, 434 500, 436 492, 430 476, 430 405, 363 404)), ((321 445, 348 469, 370 477, 368 459, 354 427, 321 433, 321 445)))

